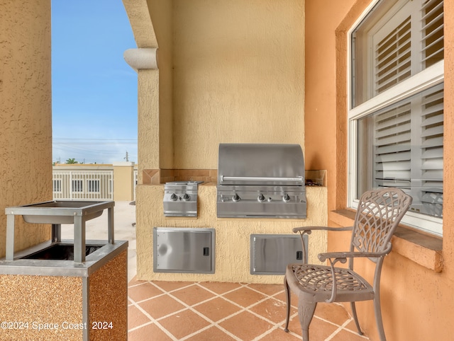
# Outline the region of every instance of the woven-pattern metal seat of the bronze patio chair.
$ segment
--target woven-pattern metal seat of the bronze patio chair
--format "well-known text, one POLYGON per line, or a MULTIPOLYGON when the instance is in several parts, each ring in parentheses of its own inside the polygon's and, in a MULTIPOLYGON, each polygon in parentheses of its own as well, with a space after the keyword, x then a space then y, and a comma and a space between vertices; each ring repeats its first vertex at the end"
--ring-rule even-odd
MULTIPOLYGON (((355 301, 373 299, 372 286, 356 272, 343 267, 335 267, 336 301, 349 301, 355 295, 355 301)), ((287 280, 291 277, 299 290, 314 296, 314 301, 324 301, 331 296, 333 290, 333 274, 331 267, 314 264, 290 264, 287 266, 287 280)))

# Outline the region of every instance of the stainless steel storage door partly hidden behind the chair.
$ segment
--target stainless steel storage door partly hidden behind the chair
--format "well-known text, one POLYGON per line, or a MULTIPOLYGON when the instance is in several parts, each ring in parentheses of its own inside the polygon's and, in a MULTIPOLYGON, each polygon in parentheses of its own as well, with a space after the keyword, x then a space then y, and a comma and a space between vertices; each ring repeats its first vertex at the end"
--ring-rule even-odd
MULTIPOLYGON (((307 255, 307 236, 304 236, 307 255)), ((291 234, 252 234, 250 274, 285 274, 289 263, 302 262, 301 237, 291 234)))

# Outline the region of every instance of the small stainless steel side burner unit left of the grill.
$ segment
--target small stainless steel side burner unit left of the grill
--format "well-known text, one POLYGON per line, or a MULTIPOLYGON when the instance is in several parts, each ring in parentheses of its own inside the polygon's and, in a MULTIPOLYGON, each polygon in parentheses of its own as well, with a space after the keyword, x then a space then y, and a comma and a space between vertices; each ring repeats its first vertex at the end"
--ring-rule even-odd
POLYGON ((172 181, 164 185, 165 216, 197 216, 197 192, 201 181, 172 181))

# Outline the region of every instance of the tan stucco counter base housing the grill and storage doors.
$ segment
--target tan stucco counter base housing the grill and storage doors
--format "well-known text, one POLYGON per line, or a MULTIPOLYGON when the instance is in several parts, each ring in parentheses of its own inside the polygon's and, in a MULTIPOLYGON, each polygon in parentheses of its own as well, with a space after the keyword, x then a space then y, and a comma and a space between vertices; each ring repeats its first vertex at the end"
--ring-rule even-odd
MULTIPOLYGON (((136 188, 136 238, 138 279, 165 281, 212 281, 281 284, 281 275, 250 274, 250 235, 292 234, 297 226, 323 226, 328 222, 327 190, 306 187, 306 219, 231 219, 216 215, 216 183, 199 185, 198 216, 166 217, 162 198, 164 184, 136 188), (216 231, 216 272, 214 274, 153 272, 153 227, 212 228, 216 231)), ((326 232, 314 231, 309 238, 309 261, 326 252, 326 232)))

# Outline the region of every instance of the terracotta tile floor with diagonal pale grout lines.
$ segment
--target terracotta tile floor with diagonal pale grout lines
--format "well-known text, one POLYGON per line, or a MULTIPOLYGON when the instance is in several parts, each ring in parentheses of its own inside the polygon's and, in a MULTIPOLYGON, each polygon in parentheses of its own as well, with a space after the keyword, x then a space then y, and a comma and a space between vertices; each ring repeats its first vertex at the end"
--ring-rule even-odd
MULTIPOLYGON (((296 298, 292 298, 296 302, 296 298)), ((283 285, 146 282, 128 287, 128 340, 301 340, 297 307, 285 333, 283 285)), ((311 341, 365 341, 342 306, 319 304, 311 341)))

